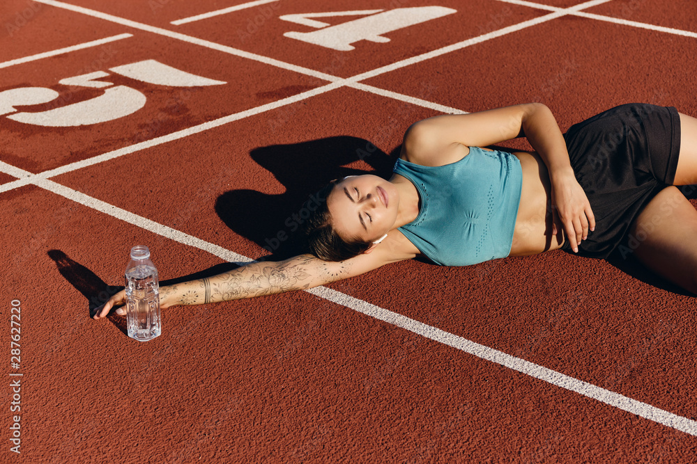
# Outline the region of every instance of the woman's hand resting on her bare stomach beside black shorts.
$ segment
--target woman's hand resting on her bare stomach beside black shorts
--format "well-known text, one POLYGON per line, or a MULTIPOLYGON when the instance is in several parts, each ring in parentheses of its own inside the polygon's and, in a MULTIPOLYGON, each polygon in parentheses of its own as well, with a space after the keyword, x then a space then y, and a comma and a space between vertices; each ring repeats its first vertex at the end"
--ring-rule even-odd
POLYGON ((579 253, 581 240, 588 238, 588 230, 595 230, 595 216, 583 188, 576 180, 574 171, 569 168, 563 172, 550 173, 552 184, 552 234, 562 225, 569 245, 574 253, 579 253))

